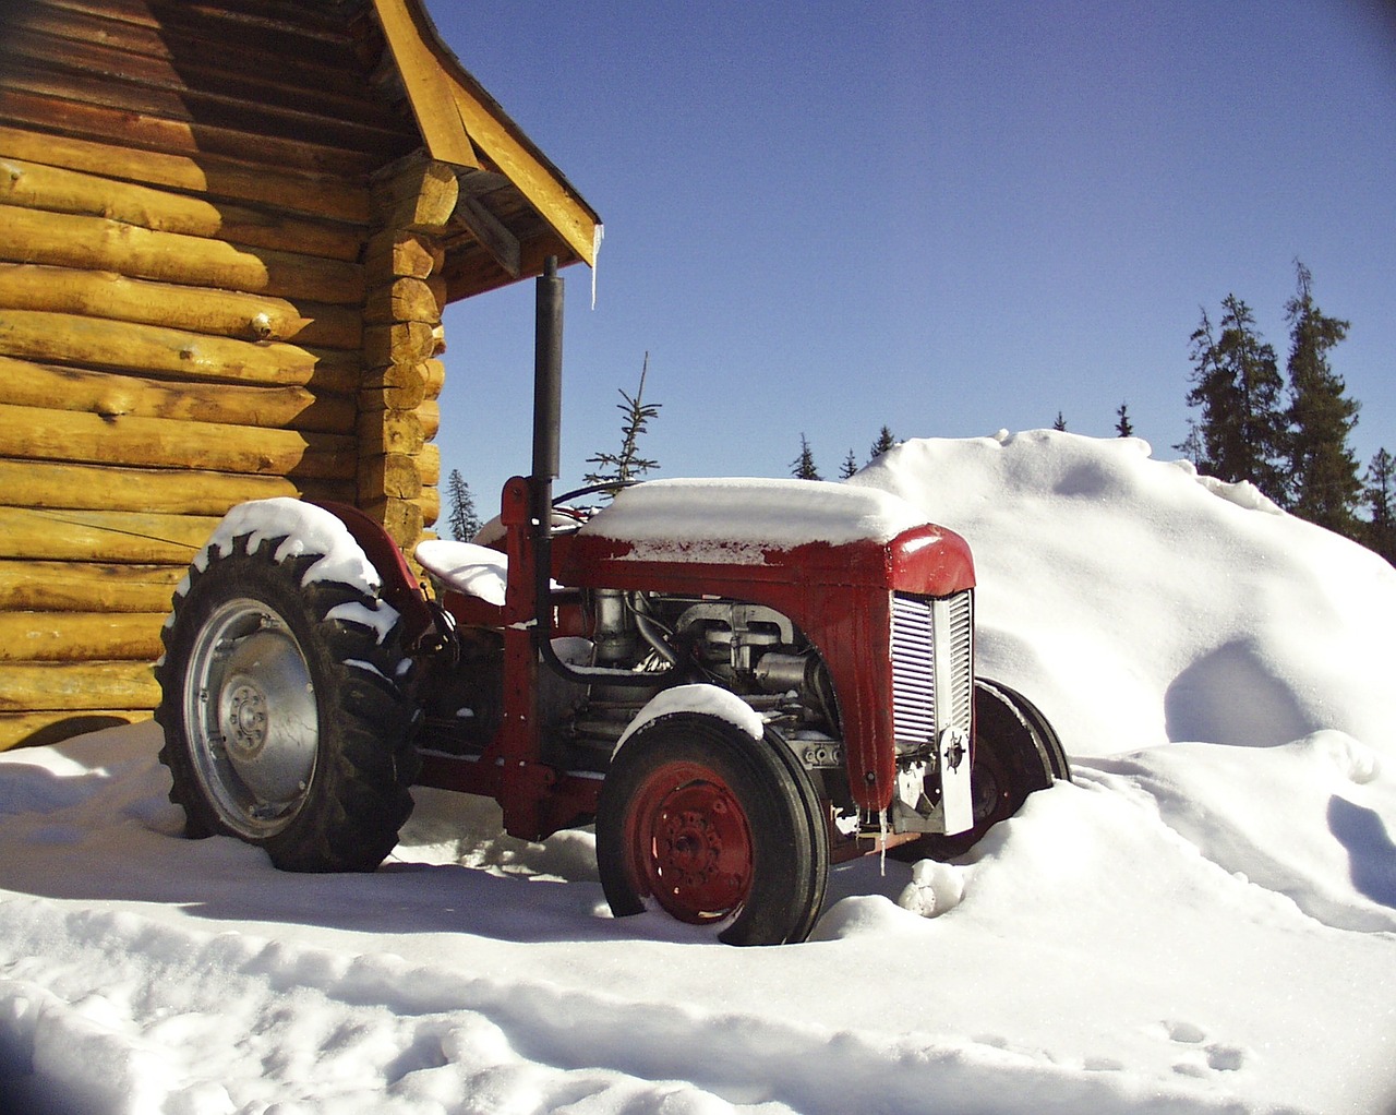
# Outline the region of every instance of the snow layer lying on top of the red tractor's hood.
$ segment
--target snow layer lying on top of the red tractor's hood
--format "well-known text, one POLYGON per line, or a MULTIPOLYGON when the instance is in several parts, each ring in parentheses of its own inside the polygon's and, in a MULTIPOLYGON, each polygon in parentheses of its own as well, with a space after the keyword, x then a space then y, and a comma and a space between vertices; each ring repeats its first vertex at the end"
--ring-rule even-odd
MULTIPOLYGON (((648 481, 617 493, 579 534, 627 542, 637 560, 759 563, 812 542, 888 544, 926 527, 914 504, 826 481, 715 478, 648 481)), ((944 534, 949 534, 945 531, 944 534)))

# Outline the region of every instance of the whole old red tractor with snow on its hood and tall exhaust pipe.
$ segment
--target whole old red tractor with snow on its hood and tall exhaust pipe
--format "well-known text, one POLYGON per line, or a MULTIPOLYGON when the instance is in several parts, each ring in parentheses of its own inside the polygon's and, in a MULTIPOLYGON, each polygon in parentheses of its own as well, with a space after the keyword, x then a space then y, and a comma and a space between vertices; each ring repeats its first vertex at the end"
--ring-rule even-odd
POLYGON ((550 263, 533 472, 491 545, 423 542, 427 587, 353 507, 261 500, 194 560, 156 671, 190 836, 373 870, 413 782, 484 794, 518 837, 595 822, 617 915, 768 945, 810 933, 831 862, 956 855, 1068 777, 974 676, 969 548, 898 497, 655 481, 554 507, 561 306, 550 263))

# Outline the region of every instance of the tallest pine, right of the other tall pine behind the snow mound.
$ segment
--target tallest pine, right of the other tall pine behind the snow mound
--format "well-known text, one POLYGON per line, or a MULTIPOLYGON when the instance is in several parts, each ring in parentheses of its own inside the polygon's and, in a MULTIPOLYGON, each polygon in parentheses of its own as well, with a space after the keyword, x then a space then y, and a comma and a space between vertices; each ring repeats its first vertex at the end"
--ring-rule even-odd
POLYGON ((1314 278, 1294 261, 1298 289, 1286 306, 1290 326, 1289 462, 1294 514, 1353 538, 1353 514, 1362 485, 1347 436, 1358 404, 1328 362, 1329 349, 1347 337, 1349 323, 1328 317, 1314 303, 1314 278))

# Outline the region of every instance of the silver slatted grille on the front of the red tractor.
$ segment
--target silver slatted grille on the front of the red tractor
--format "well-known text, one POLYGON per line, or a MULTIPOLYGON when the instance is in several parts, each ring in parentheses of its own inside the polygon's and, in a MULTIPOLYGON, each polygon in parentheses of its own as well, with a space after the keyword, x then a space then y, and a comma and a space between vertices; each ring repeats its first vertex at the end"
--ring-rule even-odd
POLYGON ((974 597, 892 597, 892 724, 898 755, 966 735, 974 708, 974 597))

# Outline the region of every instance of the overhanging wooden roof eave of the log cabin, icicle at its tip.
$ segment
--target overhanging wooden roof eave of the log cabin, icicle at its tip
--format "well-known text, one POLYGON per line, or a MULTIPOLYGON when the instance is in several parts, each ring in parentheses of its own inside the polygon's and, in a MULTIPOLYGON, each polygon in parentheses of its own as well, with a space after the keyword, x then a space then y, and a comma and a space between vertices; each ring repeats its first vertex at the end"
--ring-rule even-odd
POLYGON ((536 275, 547 256, 596 265, 602 222, 445 46, 423 0, 373 0, 430 156, 458 168, 451 299, 536 275))

